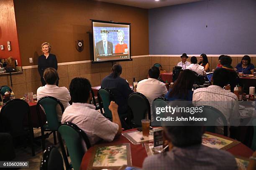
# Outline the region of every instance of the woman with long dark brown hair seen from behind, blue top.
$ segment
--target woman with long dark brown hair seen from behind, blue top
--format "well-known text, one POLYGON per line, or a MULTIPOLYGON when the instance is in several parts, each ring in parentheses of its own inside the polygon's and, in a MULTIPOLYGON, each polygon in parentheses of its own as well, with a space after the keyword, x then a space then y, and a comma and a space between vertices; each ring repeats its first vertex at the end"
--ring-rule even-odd
POLYGON ((178 99, 192 101, 192 87, 195 78, 195 73, 193 71, 189 69, 183 70, 179 73, 179 77, 174 82, 173 88, 169 90, 165 97, 170 101, 178 99))

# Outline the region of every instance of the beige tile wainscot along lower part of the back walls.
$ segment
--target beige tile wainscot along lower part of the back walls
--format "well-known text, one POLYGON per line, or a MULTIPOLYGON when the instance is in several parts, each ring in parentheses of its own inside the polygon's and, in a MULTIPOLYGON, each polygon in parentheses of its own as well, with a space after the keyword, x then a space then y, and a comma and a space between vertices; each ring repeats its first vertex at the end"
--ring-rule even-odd
MULTIPOLYGON (((232 57, 232 65, 235 67, 241 62, 242 57, 232 57)), ((189 60, 190 58, 188 58, 189 60)), ((199 59, 199 58, 198 58, 199 59)), ((210 62, 210 70, 214 69, 218 64, 218 57, 208 57, 210 62)), ((116 62, 122 65, 123 72, 121 77, 127 79, 128 82, 133 82, 133 77, 136 81, 143 80, 147 77, 148 69, 155 63, 160 63, 166 71, 172 71, 172 68, 181 61, 180 57, 139 57, 133 58, 133 61, 116 62)), ((256 65, 256 57, 252 57, 252 63, 256 65)), ((72 65, 59 65, 59 86, 69 87, 69 83, 74 77, 84 77, 90 80, 92 86, 100 85, 101 80, 110 74, 112 63, 81 63, 72 65)), ((13 91, 17 98, 20 98, 26 92, 33 92, 41 86, 40 76, 37 68, 23 70, 23 73, 12 75, 13 91)), ((0 86, 10 86, 10 76, 0 76, 0 86)))

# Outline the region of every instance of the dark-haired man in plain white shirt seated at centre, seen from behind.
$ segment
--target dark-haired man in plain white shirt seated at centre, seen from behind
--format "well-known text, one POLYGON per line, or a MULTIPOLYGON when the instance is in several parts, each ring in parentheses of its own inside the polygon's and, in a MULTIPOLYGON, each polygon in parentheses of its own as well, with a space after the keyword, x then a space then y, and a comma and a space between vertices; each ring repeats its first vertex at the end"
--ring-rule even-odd
MULTIPOLYGON (((152 102, 155 98, 164 96, 167 93, 165 84, 157 80, 159 75, 159 68, 151 67, 148 70, 148 79, 138 82, 137 87, 134 89, 134 91, 140 92, 147 97, 150 107, 152 107, 152 102)), ((153 114, 151 114, 151 121, 153 121, 153 114)))

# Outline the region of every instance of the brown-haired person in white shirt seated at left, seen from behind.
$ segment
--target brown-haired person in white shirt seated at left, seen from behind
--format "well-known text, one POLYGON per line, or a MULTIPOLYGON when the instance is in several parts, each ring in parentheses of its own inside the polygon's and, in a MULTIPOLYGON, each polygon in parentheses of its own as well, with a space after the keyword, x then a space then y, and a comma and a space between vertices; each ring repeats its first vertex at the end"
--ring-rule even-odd
MULTIPOLYGON (((64 109, 69 106, 70 95, 69 90, 66 87, 58 87, 56 86, 56 82, 59 80, 58 72, 55 68, 47 68, 44 70, 44 81, 46 85, 43 87, 39 87, 37 89, 37 101, 42 97, 51 96, 59 99, 64 106, 64 109)), ((62 111, 61 107, 57 105, 56 107, 58 120, 61 121, 62 111)))

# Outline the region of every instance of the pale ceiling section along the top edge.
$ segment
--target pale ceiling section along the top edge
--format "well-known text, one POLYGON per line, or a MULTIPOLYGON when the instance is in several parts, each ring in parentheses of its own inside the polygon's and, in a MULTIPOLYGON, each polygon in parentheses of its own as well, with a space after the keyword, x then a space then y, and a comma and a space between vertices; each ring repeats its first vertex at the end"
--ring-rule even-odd
POLYGON ((156 7, 164 7, 170 5, 177 5, 189 2, 197 2, 201 0, 97 0, 101 2, 109 2, 120 5, 128 5, 133 7, 141 7, 146 9, 156 8, 156 7))

